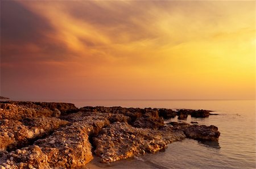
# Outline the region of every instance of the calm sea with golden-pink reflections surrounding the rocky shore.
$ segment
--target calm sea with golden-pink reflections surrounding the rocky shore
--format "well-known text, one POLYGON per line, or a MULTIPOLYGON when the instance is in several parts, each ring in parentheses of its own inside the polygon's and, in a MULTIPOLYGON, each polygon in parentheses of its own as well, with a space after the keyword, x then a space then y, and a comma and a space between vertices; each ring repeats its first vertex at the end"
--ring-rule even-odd
POLYGON ((209 109, 220 115, 205 119, 188 117, 199 125, 216 125, 221 132, 218 142, 199 142, 185 139, 168 145, 164 151, 131 159, 102 164, 97 158, 89 168, 256 168, 255 156, 255 100, 214 101, 71 101, 77 107, 85 105, 151 107, 172 109, 209 109))

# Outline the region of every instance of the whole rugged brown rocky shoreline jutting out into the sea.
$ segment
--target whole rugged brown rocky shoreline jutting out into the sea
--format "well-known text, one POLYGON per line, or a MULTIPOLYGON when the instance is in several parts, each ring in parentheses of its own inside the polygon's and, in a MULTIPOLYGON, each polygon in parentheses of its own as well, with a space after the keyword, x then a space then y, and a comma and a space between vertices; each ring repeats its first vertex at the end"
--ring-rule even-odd
POLYGON ((80 168, 155 153, 184 138, 217 141, 216 126, 164 119, 205 118, 211 111, 83 107, 71 103, 0 102, 0 169, 80 168))

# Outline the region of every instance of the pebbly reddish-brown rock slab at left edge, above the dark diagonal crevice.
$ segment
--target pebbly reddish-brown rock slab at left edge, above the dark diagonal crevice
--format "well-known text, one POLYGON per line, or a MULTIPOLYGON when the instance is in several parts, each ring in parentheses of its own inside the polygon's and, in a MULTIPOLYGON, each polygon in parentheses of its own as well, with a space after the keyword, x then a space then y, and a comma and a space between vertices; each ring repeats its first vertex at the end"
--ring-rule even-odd
POLYGON ((0 121, 0 150, 13 150, 24 147, 37 138, 47 136, 60 126, 67 125, 68 121, 56 117, 0 121))

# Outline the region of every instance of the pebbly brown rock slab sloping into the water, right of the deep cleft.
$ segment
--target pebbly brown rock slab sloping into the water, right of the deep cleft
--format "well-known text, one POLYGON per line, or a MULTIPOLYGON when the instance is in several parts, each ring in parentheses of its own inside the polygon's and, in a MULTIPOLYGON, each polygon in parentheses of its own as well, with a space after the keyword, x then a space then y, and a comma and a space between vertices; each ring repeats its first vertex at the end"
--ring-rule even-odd
POLYGON ((145 152, 155 153, 168 143, 184 138, 180 130, 134 128, 127 122, 114 122, 94 138, 94 153, 101 157, 102 162, 113 162, 145 152))

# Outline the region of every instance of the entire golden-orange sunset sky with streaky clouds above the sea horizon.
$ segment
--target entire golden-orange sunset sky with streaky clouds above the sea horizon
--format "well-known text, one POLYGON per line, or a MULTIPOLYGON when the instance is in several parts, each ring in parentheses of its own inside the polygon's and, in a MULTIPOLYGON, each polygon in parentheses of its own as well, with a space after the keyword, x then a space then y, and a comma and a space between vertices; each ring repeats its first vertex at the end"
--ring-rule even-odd
POLYGON ((254 99, 255 1, 1 1, 0 95, 254 99))

